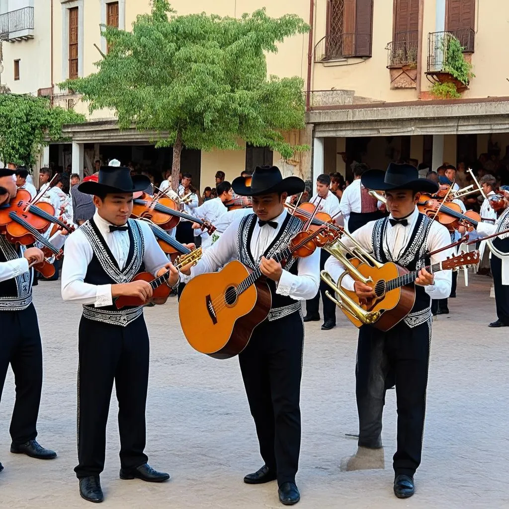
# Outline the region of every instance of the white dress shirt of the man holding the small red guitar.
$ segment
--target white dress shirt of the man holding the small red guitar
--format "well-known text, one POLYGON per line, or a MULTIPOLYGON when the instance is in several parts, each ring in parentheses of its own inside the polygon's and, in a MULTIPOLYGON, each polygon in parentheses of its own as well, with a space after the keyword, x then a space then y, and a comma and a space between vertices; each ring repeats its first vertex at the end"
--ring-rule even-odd
MULTIPOLYGON (((110 232, 110 223, 96 211, 94 221, 97 228, 113 254, 120 269, 124 269, 129 254, 129 233, 110 232)), ((149 225, 145 221, 137 221, 142 229, 145 241, 143 263, 145 270, 154 276, 168 263, 166 255, 159 247, 149 225)), ((62 298, 80 304, 95 304, 96 307, 112 304, 111 285, 91 285, 84 282, 93 250, 87 237, 79 229, 69 235, 65 244, 65 257, 62 266, 62 298)))

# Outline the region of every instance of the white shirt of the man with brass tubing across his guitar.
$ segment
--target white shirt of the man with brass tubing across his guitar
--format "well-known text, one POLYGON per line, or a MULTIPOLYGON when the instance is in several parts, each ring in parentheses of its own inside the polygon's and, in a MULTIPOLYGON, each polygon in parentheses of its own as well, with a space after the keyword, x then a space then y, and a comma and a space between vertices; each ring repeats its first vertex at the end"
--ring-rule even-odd
MULTIPOLYGON (((407 218, 408 225, 406 227, 402 224, 395 224, 394 226, 392 226, 390 223, 387 224, 385 237, 382 242, 388 248, 394 260, 398 260, 400 256, 405 252, 405 248, 410 241, 410 237, 412 235, 418 215, 419 211, 417 207, 415 207, 415 210, 407 218)), ((392 214, 389 216, 389 218, 392 218, 392 214)), ((359 228, 352 234, 353 238, 359 242, 359 244, 366 251, 370 252, 373 252, 372 235, 373 229, 375 227, 375 222, 376 221, 371 221, 367 224, 364 224, 363 227, 359 228)), ((353 247, 354 245, 353 242, 346 237, 343 237, 341 242, 347 247, 353 247)), ((441 247, 447 246, 450 243, 450 235, 447 229, 438 221, 433 221, 428 234, 428 243, 426 246, 427 251, 435 251, 436 249, 440 249, 441 247)), ((453 249, 445 249, 444 251, 434 254, 431 257, 431 263, 435 264, 438 262, 443 262, 447 259, 447 257, 453 256, 453 254, 453 249)), ((325 262, 325 270, 332 276, 334 281, 337 281, 341 274, 345 272, 345 267, 339 260, 331 256, 325 262)), ((450 270, 442 270, 435 273, 434 275, 434 284, 424 287, 426 293, 432 299, 447 298, 450 294, 451 283, 453 279, 452 272, 450 270)), ((341 286, 346 290, 354 291, 354 279, 350 275, 346 275, 342 280, 341 286)))

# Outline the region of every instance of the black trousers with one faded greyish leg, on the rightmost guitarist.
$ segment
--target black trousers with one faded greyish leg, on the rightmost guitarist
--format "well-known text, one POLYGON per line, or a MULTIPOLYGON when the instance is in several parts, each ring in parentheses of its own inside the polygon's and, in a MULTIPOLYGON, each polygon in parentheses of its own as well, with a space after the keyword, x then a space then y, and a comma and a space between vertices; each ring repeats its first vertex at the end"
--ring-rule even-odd
POLYGON ((426 411, 431 325, 405 323, 382 332, 369 325, 359 330, 356 397, 359 445, 381 447, 386 378, 394 377, 398 408, 398 449, 394 472, 413 475, 420 464, 426 411))

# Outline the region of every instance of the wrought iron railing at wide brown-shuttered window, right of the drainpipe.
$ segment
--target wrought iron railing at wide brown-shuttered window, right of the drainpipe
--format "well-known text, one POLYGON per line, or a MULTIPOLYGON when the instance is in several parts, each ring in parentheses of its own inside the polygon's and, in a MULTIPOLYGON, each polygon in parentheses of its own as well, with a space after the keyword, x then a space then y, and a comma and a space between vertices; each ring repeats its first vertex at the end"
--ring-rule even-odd
POLYGON ((329 34, 315 45, 315 63, 371 56, 371 34, 329 34))

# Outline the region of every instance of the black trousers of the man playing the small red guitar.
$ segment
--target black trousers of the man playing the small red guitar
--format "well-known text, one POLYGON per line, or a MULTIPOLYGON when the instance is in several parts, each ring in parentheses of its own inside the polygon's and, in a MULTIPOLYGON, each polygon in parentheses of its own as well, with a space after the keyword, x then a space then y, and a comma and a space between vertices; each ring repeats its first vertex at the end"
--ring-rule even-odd
POLYGON ((126 327, 81 318, 78 367, 78 478, 104 469, 106 422, 115 380, 119 402, 120 464, 134 469, 148 458, 145 404, 149 378, 149 336, 143 317, 126 327))

